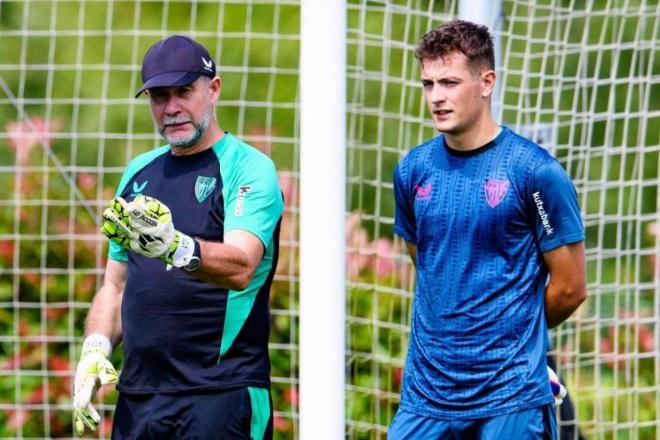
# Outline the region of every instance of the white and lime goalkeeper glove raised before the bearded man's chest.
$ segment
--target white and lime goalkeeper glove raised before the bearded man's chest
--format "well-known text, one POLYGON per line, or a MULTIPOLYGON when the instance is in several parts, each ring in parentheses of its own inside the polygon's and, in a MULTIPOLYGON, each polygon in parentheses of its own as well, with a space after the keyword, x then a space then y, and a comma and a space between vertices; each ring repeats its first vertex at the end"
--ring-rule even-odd
POLYGON ((101 232, 132 252, 156 258, 168 265, 190 263, 195 243, 174 229, 170 209, 159 200, 139 195, 130 203, 115 197, 103 212, 101 232))

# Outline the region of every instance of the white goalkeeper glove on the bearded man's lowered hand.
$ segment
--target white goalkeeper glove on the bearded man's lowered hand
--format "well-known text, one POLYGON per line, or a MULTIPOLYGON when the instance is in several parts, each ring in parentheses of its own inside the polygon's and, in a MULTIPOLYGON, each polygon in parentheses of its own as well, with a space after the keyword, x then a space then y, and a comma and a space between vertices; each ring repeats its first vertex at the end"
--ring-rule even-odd
POLYGON ((117 382, 117 371, 108 360, 112 346, 98 333, 85 338, 73 385, 73 424, 78 435, 85 426, 96 431, 101 421, 92 398, 101 385, 117 382))

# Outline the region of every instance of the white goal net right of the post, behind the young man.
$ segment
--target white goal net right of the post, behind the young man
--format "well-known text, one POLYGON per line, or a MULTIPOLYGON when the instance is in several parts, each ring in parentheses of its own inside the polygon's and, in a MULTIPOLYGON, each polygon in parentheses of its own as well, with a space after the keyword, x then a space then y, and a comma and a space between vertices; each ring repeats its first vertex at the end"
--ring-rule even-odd
MULTIPOLYGON (((392 241, 391 176, 435 135, 414 46, 457 2, 349 2, 350 438, 384 438, 409 336, 411 264, 392 241)), ((657 2, 504 1, 496 118, 550 150, 576 185, 589 298, 551 333, 574 417, 563 438, 657 438, 657 2)))

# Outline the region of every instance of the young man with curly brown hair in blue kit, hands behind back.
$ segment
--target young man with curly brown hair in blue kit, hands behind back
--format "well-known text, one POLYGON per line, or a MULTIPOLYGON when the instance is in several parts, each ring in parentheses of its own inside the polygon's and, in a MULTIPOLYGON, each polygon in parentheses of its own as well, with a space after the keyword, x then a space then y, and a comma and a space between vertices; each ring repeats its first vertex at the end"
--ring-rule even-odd
POLYGON ((547 328, 586 296, 575 189, 549 153, 493 120, 486 27, 447 23, 416 55, 442 135, 394 173, 394 231, 418 277, 389 438, 554 438, 547 328))

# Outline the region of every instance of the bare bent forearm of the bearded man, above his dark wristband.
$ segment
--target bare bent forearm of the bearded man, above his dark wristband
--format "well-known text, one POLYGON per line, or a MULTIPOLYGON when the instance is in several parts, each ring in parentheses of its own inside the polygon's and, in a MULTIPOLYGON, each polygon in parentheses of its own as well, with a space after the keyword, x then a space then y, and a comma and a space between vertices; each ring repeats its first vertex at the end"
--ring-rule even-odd
POLYGON ((232 290, 243 290, 254 274, 246 252, 238 247, 199 240, 201 261, 191 274, 203 281, 232 290))

